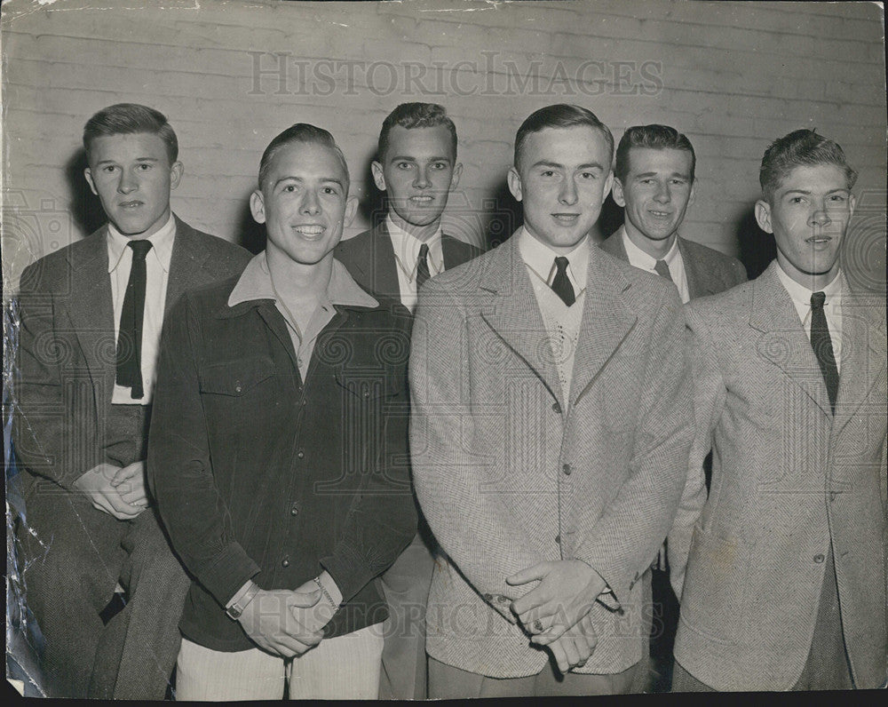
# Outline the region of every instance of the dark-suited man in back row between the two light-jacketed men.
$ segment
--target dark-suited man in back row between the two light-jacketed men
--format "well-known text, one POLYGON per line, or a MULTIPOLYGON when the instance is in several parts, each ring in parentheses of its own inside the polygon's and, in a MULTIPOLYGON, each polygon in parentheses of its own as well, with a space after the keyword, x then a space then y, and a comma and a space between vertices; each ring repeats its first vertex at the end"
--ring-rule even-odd
MULTIPOLYGON (((669 125, 628 128, 616 148, 614 201, 623 207, 623 225, 601 248, 630 265, 675 283, 682 302, 714 295, 746 282, 737 258, 688 241, 678 234, 694 203, 694 146, 669 125)), ((651 636, 654 689, 668 689, 678 605, 670 591, 662 553, 654 568, 651 636)))

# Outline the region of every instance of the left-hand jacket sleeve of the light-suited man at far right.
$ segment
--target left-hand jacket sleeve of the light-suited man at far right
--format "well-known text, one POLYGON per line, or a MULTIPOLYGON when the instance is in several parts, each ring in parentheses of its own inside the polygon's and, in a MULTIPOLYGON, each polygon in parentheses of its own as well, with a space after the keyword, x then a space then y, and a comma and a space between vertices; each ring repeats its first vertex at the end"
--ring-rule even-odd
POLYGON ((712 447, 712 430, 725 405, 725 383, 718 369, 718 353, 693 306, 685 308, 687 350, 694 380, 694 441, 688 457, 685 488, 669 533, 670 582, 678 599, 685 583, 694 525, 706 503, 703 460, 712 447))

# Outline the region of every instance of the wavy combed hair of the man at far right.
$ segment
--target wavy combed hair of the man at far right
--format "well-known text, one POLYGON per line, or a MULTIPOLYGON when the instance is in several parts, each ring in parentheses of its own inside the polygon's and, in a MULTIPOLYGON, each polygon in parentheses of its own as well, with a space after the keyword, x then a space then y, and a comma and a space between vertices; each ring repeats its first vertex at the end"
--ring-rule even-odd
POLYGON ((818 164, 834 164, 844 170, 848 188, 854 187, 857 171, 848 164, 844 151, 836 142, 807 128, 792 131, 789 135, 775 139, 765 150, 762 166, 758 171, 758 181, 762 185, 762 195, 765 196, 765 200, 773 203, 774 195, 783 180, 789 176, 789 172, 797 167, 811 167, 818 164))

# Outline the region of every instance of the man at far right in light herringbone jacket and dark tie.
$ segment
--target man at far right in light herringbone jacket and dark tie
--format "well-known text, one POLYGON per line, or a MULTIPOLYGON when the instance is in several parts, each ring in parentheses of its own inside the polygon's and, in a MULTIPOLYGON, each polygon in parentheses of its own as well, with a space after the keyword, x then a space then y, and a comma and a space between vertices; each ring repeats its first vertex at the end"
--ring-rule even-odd
POLYGON ((697 435, 669 542, 673 690, 884 687, 885 307, 838 259, 857 174, 799 130, 759 176, 777 258, 686 307, 697 435))

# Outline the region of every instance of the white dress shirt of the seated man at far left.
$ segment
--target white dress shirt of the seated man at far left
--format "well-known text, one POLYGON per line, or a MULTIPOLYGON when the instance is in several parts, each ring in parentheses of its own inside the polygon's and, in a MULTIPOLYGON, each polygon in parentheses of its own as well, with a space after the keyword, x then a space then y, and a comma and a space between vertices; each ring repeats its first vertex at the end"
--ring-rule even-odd
MULTIPOLYGON (((150 405, 154 393, 157 369, 157 352, 161 341, 163 310, 166 305, 167 282, 170 279, 170 259, 172 243, 176 238, 176 221, 170 219, 155 234, 147 238, 151 250, 145 257, 145 315, 142 322, 142 385, 145 394, 133 400, 130 387, 115 383, 111 402, 115 405, 150 405)), ((111 300, 114 303, 115 341, 120 336, 120 315, 123 311, 123 297, 130 281, 132 249, 127 243, 132 239, 121 234, 108 224, 108 276, 111 278, 111 300)))

